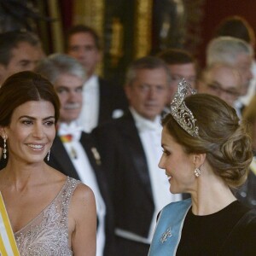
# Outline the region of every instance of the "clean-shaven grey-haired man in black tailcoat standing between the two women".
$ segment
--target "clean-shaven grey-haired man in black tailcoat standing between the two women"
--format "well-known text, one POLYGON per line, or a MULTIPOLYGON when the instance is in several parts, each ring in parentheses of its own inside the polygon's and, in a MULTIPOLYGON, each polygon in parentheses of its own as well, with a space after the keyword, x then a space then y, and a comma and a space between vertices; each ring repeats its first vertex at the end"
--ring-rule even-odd
POLYGON ((134 61, 125 84, 129 111, 93 131, 111 189, 118 255, 148 255, 157 214, 181 199, 170 193, 166 174, 158 167, 160 113, 170 83, 164 61, 152 56, 134 61))

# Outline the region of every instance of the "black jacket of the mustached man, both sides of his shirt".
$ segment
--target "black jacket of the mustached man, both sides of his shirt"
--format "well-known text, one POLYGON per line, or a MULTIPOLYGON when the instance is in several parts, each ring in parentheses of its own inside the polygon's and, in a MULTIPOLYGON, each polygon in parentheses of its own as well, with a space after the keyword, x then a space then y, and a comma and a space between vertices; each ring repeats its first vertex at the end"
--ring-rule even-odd
MULTIPOLYGON (((104 249, 104 256, 115 255, 115 244, 114 244, 114 234, 113 234, 113 207, 108 191, 108 183, 106 181, 105 174, 102 171, 102 166, 96 163, 96 159, 92 154, 91 148, 96 148, 96 145, 89 134, 82 132, 80 138, 80 143, 84 147, 84 151, 88 156, 90 165, 95 172, 96 181, 98 183, 99 189, 102 194, 102 198, 105 201, 107 214, 105 218, 105 234, 106 234, 106 243, 104 249)), ((49 166, 54 167, 55 169, 61 171, 69 177, 79 179, 79 175, 76 172, 75 167, 73 166, 72 161, 67 154, 66 149, 61 143, 60 137, 56 136, 55 141, 50 149, 49 161, 46 160, 49 166)))

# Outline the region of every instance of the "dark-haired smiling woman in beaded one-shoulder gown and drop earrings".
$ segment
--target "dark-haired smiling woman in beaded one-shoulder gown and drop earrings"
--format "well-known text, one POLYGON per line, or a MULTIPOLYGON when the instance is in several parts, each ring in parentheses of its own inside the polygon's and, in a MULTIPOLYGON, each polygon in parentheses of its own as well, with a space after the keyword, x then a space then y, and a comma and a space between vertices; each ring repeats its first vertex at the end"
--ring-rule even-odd
POLYGON ((92 191, 44 162, 59 107, 53 85, 36 73, 16 73, 0 88, 3 160, 8 158, 0 191, 20 256, 96 255, 92 191))

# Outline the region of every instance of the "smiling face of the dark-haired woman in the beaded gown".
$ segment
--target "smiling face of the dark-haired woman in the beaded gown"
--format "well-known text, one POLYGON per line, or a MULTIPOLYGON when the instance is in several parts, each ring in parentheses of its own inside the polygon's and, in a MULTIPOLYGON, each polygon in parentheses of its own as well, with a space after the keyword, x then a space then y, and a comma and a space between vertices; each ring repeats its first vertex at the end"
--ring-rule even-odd
POLYGON ((15 108, 8 127, 9 160, 43 161, 55 138, 55 108, 51 102, 31 101, 15 108))

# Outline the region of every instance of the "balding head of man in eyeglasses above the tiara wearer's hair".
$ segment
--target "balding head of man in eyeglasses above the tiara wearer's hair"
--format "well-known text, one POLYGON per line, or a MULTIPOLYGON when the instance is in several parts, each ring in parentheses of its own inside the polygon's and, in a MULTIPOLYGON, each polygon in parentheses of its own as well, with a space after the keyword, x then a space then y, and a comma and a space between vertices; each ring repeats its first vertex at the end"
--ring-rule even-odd
POLYGON ((235 67, 215 63, 201 73, 197 88, 201 93, 218 96, 230 106, 234 106, 241 92, 241 84, 241 75, 235 67))

